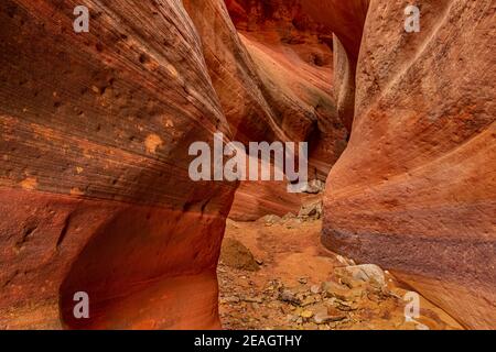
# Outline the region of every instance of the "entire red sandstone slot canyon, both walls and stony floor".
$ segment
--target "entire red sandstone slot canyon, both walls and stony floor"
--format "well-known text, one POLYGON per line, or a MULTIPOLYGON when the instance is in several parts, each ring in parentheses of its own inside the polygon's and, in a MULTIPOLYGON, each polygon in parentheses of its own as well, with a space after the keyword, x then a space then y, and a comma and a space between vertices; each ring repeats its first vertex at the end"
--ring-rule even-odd
POLYGON ((2 0, 0 329, 495 329, 496 3, 410 4, 2 0), (192 180, 215 133, 306 188, 192 180))

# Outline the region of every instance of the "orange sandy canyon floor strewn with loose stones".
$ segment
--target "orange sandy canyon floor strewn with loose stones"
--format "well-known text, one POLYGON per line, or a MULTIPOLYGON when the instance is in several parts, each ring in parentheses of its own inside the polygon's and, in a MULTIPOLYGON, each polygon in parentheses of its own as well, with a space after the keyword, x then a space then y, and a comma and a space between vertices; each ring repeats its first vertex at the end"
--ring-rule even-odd
POLYGON ((462 329, 422 297, 420 318, 407 321, 410 290, 387 271, 382 285, 349 275, 355 263, 321 245, 317 218, 228 220, 218 266, 225 329, 462 329))

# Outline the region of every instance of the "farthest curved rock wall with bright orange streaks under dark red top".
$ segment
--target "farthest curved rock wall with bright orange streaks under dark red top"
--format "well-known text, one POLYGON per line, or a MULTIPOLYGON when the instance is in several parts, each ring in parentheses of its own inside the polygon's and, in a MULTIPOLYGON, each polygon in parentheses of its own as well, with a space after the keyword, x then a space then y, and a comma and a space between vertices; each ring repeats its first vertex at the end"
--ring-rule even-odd
POLYGON ((331 30, 306 15, 300 0, 226 4, 255 63, 271 117, 284 133, 276 135, 282 141, 308 141, 310 178, 324 180, 347 139, 332 95, 331 30))

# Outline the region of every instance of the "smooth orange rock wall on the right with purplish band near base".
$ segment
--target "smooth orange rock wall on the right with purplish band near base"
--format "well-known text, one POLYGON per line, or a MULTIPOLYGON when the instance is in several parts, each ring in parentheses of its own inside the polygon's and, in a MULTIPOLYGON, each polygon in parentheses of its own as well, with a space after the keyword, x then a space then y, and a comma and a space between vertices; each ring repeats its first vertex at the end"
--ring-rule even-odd
POLYGON ((421 31, 406 33, 410 2, 373 0, 358 56, 326 3, 306 1, 330 15, 346 65, 358 59, 324 243, 391 270, 466 327, 495 328, 494 3, 417 1, 421 31))

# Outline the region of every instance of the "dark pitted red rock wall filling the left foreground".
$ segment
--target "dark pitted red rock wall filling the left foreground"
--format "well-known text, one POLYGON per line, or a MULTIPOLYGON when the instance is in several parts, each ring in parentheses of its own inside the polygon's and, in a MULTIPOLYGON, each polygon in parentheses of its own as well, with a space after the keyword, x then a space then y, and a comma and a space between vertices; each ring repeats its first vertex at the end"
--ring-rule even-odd
POLYGON ((236 185, 188 177, 229 130, 182 2, 6 0, 0 23, 0 328, 218 328, 236 185))

